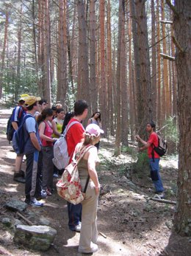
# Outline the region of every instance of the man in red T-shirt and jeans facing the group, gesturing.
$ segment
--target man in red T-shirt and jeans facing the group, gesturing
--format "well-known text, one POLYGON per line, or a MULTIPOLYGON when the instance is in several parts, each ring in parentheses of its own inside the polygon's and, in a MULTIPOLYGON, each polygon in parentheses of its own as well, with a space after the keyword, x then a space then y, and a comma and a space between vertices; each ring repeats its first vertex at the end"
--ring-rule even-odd
POLYGON ((148 142, 145 142, 143 139, 141 139, 139 135, 137 135, 136 138, 141 143, 143 143, 143 147, 140 148, 140 151, 144 151, 145 149, 148 149, 149 165, 151 169, 151 179, 154 183, 156 193, 159 194, 160 198, 163 198, 164 187, 162 185, 162 179, 159 175, 160 156, 154 151, 154 146, 155 147, 158 146, 158 136, 154 132, 155 127, 156 125, 154 122, 148 122, 146 126, 146 131, 148 131, 148 134, 149 134, 148 142))

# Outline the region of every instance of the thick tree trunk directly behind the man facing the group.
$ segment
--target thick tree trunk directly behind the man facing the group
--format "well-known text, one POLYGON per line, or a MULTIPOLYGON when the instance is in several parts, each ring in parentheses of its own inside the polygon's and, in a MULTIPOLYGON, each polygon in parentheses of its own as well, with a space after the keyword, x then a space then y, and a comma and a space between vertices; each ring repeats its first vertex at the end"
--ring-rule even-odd
POLYGON ((151 99, 151 70, 148 48, 147 18, 145 1, 135 0, 137 17, 138 55, 140 58, 140 85, 137 91, 137 117, 140 122, 140 136, 145 138, 145 125, 153 120, 151 99))

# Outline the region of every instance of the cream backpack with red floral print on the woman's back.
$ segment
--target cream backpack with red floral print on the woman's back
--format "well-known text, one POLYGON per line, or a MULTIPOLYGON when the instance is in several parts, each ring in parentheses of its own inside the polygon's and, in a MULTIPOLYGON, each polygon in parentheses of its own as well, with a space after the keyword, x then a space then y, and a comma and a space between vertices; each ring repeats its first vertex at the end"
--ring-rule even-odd
POLYGON ((87 177, 84 191, 82 192, 79 179, 78 164, 79 161, 83 158, 84 154, 92 147, 92 145, 87 145, 86 147, 82 148, 80 152, 77 151, 73 156, 73 162, 65 167, 65 171, 62 173, 61 179, 57 181, 58 195, 64 198, 66 201, 69 201, 71 204, 79 204, 84 200, 84 193, 86 193, 90 176, 87 177), (78 157, 75 160, 76 155, 78 155, 78 157))

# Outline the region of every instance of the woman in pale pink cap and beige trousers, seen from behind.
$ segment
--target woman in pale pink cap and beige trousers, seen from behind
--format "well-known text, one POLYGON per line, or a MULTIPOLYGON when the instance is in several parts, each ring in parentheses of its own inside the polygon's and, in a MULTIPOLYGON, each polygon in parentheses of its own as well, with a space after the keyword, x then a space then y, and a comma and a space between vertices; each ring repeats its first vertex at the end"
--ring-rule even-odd
POLYGON ((79 178, 84 191, 87 177, 90 176, 90 181, 87 184, 87 190, 82 201, 82 228, 79 238, 79 252, 93 253, 98 250, 97 239, 97 208, 98 195, 100 184, 98 174, 95 170, 95 165, 98 163, 98 151, 95 144, 100 140, 100 134, 104 131, 98 125, 90 124, 84 132, 84 141, 76 145, 76 157, 79 152, 83 151, 84 147, 92 145, 92 147, 84 154, 78 165, 79 178))

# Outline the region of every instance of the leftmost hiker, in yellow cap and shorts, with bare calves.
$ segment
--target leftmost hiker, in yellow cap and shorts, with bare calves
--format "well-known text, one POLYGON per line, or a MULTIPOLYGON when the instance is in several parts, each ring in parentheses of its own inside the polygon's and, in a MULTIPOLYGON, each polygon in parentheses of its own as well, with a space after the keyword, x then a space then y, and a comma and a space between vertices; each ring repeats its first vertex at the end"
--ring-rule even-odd
MULTIPOLYGON (((23 121, 24 115, 26 114, 26 109, 24 108, 24 101, 26 97, 29 97, 29 94, 21 94, 20 100, 18 101, 18 106, 16 106, 12 111, 11 123, 15 131, 18 130, 18 127, 23 121)), ((24 154, 17 154, 15 158, 15 173, 13 180, 21 183, 25 183, 25 173, 24 170, 21 170, 22 161, 24 154)))

